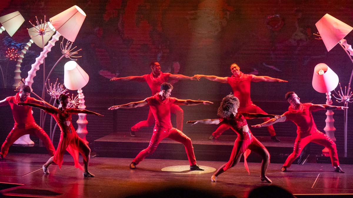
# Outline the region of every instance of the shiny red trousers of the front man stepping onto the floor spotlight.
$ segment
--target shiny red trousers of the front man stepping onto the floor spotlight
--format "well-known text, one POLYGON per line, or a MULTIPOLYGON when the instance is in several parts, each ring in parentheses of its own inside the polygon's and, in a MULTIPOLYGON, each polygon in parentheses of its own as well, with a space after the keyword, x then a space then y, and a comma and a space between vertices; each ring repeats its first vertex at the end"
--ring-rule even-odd
POLYGON ((190 166, 196 164, 194 148, 192 147, 191 139, 187 137, 185 134, 183 134, 183 132, 175 128, 164 129, 164 130, 153 129, 153 134, 150 140, 150 144, 146 149, 143 149, 142 151, 140 151, 140 153, 135 157, 135 159, 132 160, 132 162, 138 165, 146 156, 151 155, 156 150, 158 144, 166 137, 184 144, 185 151, 187 154, 187 159, 189 159, 190 166))

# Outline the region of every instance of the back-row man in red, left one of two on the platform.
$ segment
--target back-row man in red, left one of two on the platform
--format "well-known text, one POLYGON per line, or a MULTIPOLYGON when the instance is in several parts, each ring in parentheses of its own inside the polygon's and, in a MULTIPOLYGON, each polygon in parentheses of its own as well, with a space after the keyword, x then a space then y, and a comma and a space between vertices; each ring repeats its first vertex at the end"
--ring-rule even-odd
MULTIPOLYGON (((127 76, 121 78, 112 78, 112 81, 140 81, 140 82, 147 82, 148 86, 151 89, 152 96, 156 93, 160 92, 160 87, 163 82, 167 82, 168 79, 171 80, 199 80, 196 76, 184 76, 181 74, 170 74, 170 73, 163 73, 161 72, 161 66, 158 62, 151 62, 150 68, 152 72, 150 74, 145 74, 143 76, 127 76)), ((178 105, 172 105, 170 107, 170 112, 176 115, 177 117, 177 129, 183 131, 183 119, 184 119, 184 111, 178 105)), ((135 137, 135 131, 139 131, 142 127, 151 126, 155 123, 155 119, 153 117, 151 108, 148 112, 147 120, 143 120, 134 126, 131 127, 130 135, 135 137)))

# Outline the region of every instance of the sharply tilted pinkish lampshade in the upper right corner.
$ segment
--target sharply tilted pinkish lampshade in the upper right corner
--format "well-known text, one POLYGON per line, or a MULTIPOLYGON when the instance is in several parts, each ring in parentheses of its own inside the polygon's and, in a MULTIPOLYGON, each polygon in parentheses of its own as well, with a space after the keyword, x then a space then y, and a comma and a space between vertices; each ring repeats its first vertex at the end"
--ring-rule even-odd
POLYGON ((353 30, 353 27, 343 23, 335 17, 325 14, 316 22, 316 28, 320 33, 327 51, 330 51, 342 38, 353 30))

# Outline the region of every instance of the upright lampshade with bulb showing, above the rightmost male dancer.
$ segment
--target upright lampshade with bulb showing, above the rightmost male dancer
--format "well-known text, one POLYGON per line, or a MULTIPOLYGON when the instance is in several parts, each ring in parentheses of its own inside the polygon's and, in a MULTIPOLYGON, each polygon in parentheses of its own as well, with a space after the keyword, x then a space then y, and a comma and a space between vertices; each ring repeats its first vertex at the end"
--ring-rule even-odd
POLYGON ((312 76, 312 87, 320 93, 327 93, 334 90, 338 85, 337 74, 325 63, 319 63, 314 68, 312 76))

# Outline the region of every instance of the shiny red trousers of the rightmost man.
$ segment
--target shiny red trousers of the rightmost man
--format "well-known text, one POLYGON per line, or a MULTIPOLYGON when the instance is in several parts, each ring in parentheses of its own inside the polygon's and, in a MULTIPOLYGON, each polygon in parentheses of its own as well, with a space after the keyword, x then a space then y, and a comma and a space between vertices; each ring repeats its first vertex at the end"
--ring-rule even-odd
POLYGON ((335 142, 331 140, 331 138, 329 138, 327 135, 317 130, 316 132, 313 132, 311 135, 306 137, 301 138, 299 135, 297 136, 294 142, 293 153, 288 156, 286 162, 283 164, 283 167, 290 167, 293 161, 297 159, 303 148, 309 142, 317 143, 328 148, 332 166, 340 165, 340 163, 338 162, 338 155, 335 142))

